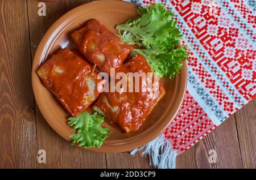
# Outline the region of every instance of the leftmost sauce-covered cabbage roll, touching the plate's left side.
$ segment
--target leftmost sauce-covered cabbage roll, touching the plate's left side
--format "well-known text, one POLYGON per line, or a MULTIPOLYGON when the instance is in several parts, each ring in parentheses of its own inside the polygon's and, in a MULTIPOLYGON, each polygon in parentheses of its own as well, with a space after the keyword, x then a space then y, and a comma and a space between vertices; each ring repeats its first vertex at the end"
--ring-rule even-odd
POLYGON ((39 68, 38 75, 72 116, 79 115, 100 95, 98 74, 68 48, 52 55, 39 68))

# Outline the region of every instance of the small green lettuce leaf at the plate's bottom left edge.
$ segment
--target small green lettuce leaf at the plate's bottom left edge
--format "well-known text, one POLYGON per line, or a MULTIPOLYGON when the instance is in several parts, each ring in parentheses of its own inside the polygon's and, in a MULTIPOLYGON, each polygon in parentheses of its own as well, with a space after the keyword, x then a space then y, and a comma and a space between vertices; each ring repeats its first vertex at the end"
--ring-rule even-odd
POLYGON ((100 147, 108 138, 108 133, 111 133, 108 128, 101 126, 104 117, 97 112, 92 115, 83 112, 77 117, 68 118, 68 120, 69 125, 76 130, 69 136, 72 139, 72 145, 77 144, 86 148, 100 147))

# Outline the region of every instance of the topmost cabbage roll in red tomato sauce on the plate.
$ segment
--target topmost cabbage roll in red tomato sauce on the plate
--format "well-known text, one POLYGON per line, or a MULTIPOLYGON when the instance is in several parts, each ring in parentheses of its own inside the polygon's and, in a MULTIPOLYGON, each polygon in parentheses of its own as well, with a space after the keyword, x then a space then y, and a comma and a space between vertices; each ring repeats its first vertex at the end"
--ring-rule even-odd
POLYGON ((96 64, 100 71, 108 74, 110 68, 119 71, 123 61, 133 51, 131 45, 122 42, 96 19, 89 20, 84 27, 73 32, 71 37, 80 52, 96 64))

